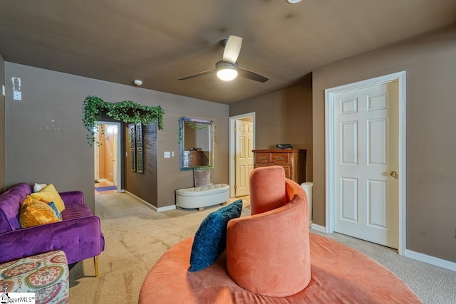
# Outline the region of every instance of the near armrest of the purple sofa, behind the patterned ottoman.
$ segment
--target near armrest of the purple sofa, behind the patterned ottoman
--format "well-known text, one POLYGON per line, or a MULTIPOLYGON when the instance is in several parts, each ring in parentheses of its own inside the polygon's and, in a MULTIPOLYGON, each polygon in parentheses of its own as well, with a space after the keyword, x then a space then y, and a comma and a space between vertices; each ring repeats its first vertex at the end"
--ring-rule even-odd
POLYGON ((0 234, 0 263, 47 251, 64 251, 68 263, 98 256, 105 241, 98 216, 17 229, 0 234))

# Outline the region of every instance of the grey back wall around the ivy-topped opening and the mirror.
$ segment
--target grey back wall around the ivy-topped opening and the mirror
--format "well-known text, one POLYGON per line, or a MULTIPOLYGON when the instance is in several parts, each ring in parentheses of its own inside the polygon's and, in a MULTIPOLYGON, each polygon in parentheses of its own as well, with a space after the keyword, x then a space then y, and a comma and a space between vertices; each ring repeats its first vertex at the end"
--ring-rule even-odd
POLYGON ((192 187, 192 172, 179 169, 177 122, 181 116, 217 123, 211 178, 228 182, 227 105, 9 62, 5 63, 5 75, 6 79, 21 78, 23 89, 23 100, 15 101, 11 84, 6 85, 6 187, 17 182, 52 182, 58 191, 80 189, 86 203, 95 209, 94 153, 81 121, 83 100, 90 94, 108 102, 133 100, 165 110, 164 130, 156 132, 157 180, 142 181, 146 189, 146 182, 152 186, 155 182, 158 189, 150 204, 173 205, 175 189, 192 187), (164 159, 165 151, 174 151, 175 157, 164 159))

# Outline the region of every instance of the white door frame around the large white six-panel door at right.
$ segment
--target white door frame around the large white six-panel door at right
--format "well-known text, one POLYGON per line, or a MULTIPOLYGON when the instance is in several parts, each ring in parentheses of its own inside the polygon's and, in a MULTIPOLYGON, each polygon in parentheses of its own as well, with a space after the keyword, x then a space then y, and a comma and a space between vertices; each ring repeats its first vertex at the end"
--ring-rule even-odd
POLYGON ((383 75, 368 80, 362 80, 357 83, 349 83, 335 88, 325 90, 325 157, 326 157, 326 234, 334 232, 334 95, 348 90, 357 90, 370 85, 380 85, 398 80, 399 98, 398 98, 398 150, 399 150, 399 166, 398 166, 398 185, 399 185, 399 248, 398 253, 401 256, 405 255, 406 246, 406 133, 405 133, 405 116, 406 116, 406 86, 405 86, 405 71, 383 75))

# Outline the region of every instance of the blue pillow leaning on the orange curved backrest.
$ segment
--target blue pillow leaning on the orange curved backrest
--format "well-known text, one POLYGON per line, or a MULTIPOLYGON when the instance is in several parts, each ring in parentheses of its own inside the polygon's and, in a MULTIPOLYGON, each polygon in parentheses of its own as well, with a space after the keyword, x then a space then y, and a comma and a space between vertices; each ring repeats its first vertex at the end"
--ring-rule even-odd
POLYGON ((227 224, 241 216, 242 200, 224 206, 209 214, 199 226, 190 253, 188 271, 200 271, 212 265, 227 247, 227 224))

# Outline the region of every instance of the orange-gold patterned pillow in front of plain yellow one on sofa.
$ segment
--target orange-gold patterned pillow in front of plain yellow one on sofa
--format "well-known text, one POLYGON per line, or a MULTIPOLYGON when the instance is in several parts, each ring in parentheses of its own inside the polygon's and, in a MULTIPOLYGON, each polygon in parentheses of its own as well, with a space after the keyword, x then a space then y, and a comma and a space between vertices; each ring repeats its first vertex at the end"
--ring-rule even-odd
POLYGON ((19 222, 22 228, 55 223, 56 221, 60 221, 60 219, 48 204, 27 195, 19 211, 19 222))

